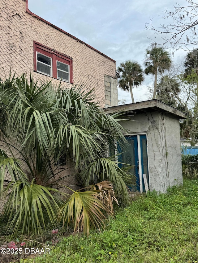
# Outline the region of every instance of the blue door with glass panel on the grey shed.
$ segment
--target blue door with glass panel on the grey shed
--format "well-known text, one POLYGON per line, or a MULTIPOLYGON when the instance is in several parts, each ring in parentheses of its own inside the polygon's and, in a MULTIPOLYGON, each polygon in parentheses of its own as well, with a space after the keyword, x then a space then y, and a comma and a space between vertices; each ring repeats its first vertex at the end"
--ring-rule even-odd
POLYGON ((127 145, 121 146, 121 144, 118 144, 118 153, 120 153, 118 161, 132 165, 129 170, 133 175, 131 183, 128 185, 130 191, 145 191, 143 174, 146 174, 149 185, 146 135, 131 135, 125 138, 128 142, 127 145))

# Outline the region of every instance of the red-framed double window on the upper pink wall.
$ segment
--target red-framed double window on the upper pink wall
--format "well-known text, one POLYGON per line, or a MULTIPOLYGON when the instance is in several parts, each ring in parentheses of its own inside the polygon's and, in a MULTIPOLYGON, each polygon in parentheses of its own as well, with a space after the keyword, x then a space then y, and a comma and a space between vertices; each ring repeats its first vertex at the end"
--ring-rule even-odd
POLYGON ((72 58, 34 41, 34 71, 73 83, 72 58))

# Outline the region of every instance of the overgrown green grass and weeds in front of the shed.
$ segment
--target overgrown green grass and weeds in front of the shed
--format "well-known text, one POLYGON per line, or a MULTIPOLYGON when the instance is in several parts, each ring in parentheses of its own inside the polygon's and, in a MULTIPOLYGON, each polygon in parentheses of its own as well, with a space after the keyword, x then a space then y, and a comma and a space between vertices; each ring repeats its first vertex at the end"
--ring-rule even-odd
MULTIPOLYGON (((23 260, 21 260, 23 262, 23 260)), ((150 192, 119 209, 104 231, 63 237, 50 255, 26 259, 51 262, 197 262, 198 181, 186 180, 168 194, 150 192)))

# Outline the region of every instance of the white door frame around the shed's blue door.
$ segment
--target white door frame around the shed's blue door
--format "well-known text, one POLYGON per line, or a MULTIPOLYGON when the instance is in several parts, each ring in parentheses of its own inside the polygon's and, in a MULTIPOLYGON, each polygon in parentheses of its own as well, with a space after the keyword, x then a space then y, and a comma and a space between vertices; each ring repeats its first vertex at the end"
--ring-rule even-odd
POLYGON ((146 146, 147 146, 147 162, 148 162, 148 176, 149 176, 149 189, 150 189, 150 173, 149 173, 149 151, 148 151, 148 135, 147 133, 129 133, 123 134, 124 136, 136 136, 137 135, 137 147, 138 147, 138 160, 139 160, 139 180, 140 180, 140 193, 143 193, 143 175, 142 175, 142 158, 141 158, 141 146, 140 146, 140 135, 146 135, 146 146), (140 176, 141 175, 141 176, 140 176))

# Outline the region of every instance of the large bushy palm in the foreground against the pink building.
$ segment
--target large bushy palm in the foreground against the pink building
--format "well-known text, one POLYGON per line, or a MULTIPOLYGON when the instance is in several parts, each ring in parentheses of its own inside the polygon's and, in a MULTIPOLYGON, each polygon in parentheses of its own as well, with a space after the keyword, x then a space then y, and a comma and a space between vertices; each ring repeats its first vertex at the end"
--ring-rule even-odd
POLYGON ((83 86, 53 87, 24 75, 0 79, 0 195, 9 197, 7 231, 40 233, 46 222, 56 227, 58 218, 88 234, 90 224, 103 225, 102 210, 111 213, 113 200, 128 201, 130 175, 106 157, 112 140, 124 140, 118 117, 100 109, 83 86), (71 174, 58 178, 66 169, 56 169, 63 156, 83 189, 66 185, 71 174), (68 188, 73 194, 66 194, 68 188))

